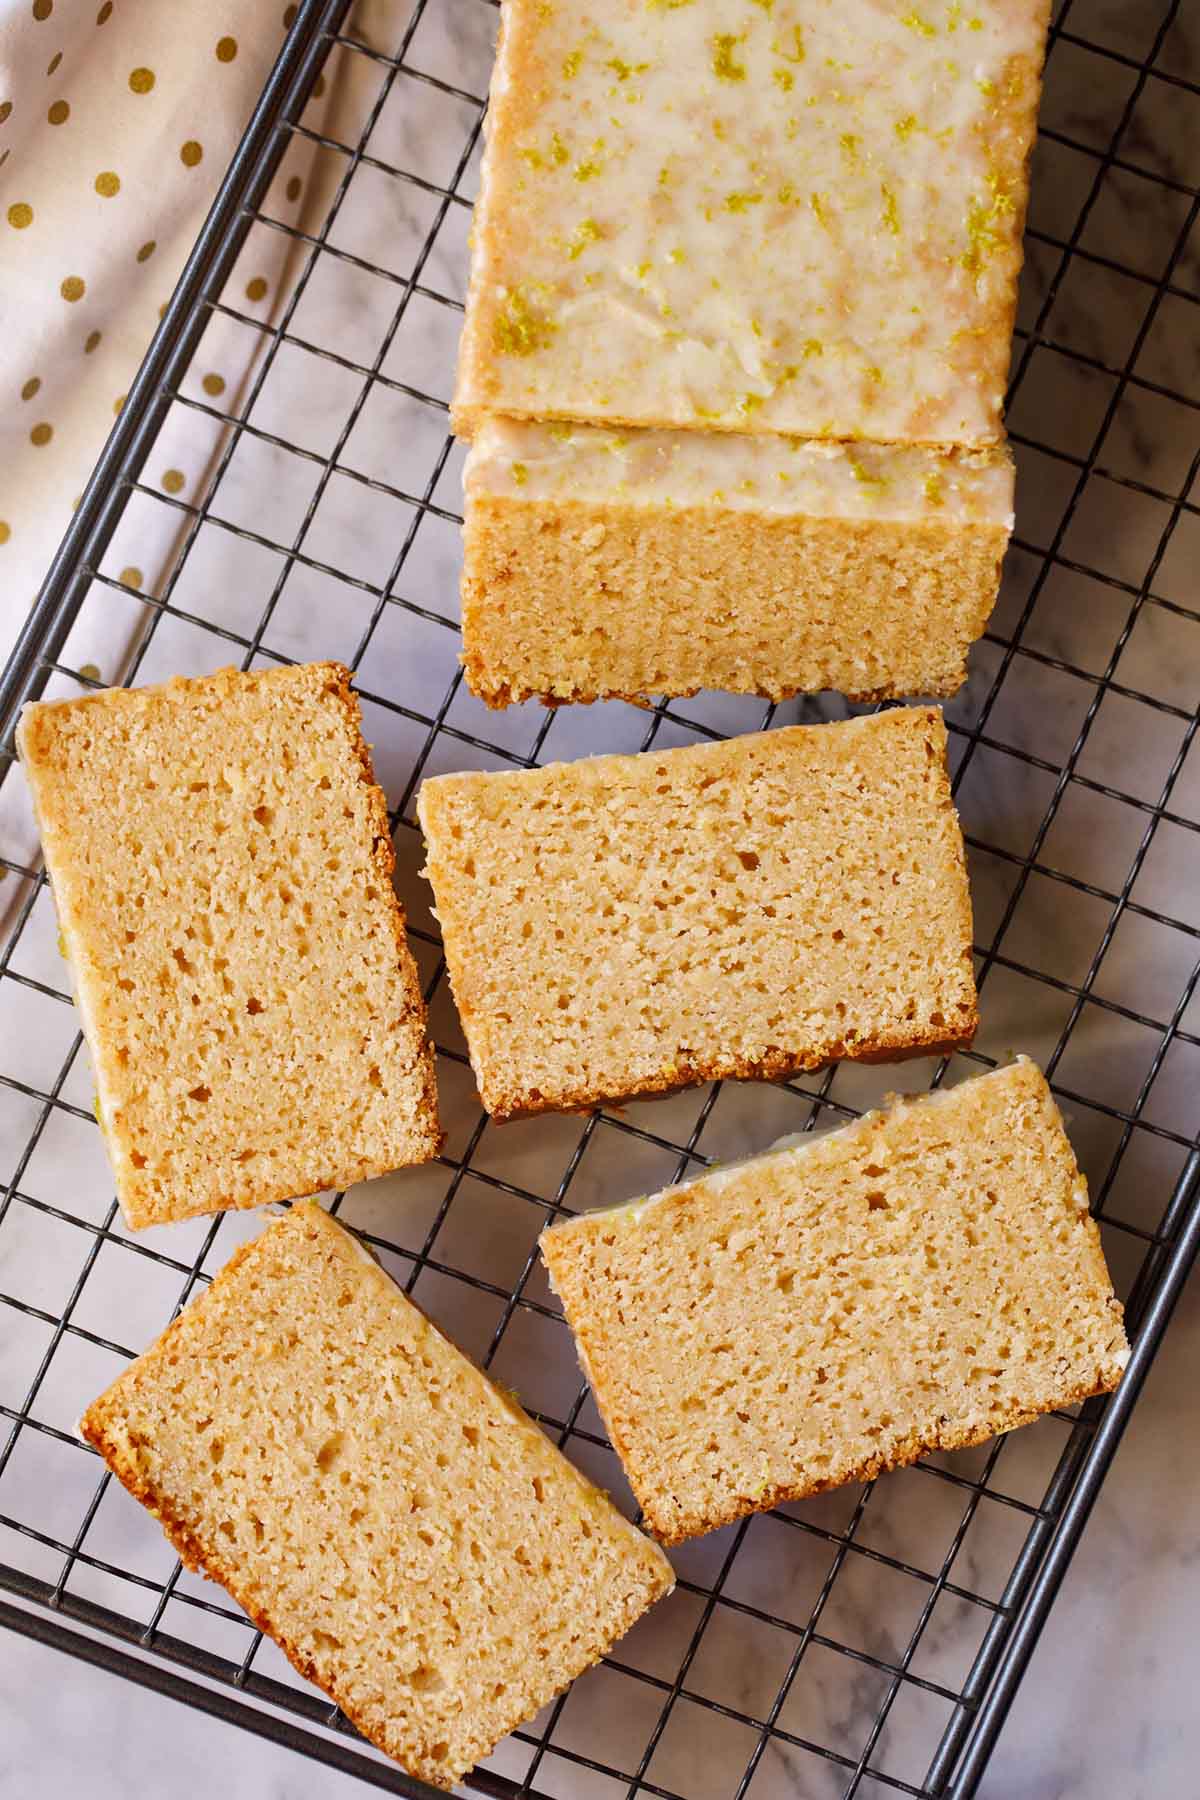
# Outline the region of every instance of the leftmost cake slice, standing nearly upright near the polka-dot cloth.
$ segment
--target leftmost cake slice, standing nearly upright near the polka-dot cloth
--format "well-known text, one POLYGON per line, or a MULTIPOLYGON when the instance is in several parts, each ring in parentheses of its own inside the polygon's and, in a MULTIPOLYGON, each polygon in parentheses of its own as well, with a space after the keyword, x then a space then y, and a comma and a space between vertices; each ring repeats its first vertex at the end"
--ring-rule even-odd
POLYGON ((18 749, 131 1226, 437 1152, 387 805, 340 664, 31 706, 18 749))

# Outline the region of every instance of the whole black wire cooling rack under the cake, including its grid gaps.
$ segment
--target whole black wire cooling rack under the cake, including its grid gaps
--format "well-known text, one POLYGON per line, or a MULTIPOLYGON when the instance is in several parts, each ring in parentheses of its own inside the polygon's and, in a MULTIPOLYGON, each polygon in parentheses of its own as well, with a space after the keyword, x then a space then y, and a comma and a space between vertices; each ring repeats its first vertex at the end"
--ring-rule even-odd
MULTIPOLYGON (((1200 194, 1178 160, 1200 86, 1178 9, 1067 0, 1052 32, 1009 407, 1018 533, 993 628, 948 707, 977 914, 975 1051, 498 1129, 479 1111, 416 875, 421 776, 846 709, 700 697, 649 713, 486 715, 466 693, 446 400, 495 9, 416 0, 394 29, 378 13, 295 9, 4 677, 7 742, 22 698, 95 684, 81 646, 97 617, 126 621, 108 680, 299 655, 356 668, 450 1136, 435 1165, 333 1204, 624 1505, 536 1260, 547 1219, 853 1116, 889 1085, 955 1080, 1015 1049, 1043 1062, 1135 1327, 1119 1393, 685 1546, 675 1597, 470 1782, 500 1800, 966 1800, 1200 1240, 1200 752, 1187 760, 1200 387, 1186 353, 1200 194), (313 113, 322 67, 331 104, 313 113), (297 223, 277 202, 295 196, 286 171, 300 155, 317 203, 297 223), (246 272, 281 236, 264 317, 246 304, 259 292, 246 272), (201 380, 218 328, 255 340, 236 403, 201 380), (184 491, 155 473, 180 419, 212 427, 209 466, 184 491), (164 522, 162 571, 119 569, 131 544, 164 540, 164 522)), ((9 763, 11 749, 0 779, 9 763)), ((72 1435, 257 1222, 128 1237, 45 877, 29 851, 4 871, 0 1622, 381 1789, 428 1793, 180 1570, 72 1435)))

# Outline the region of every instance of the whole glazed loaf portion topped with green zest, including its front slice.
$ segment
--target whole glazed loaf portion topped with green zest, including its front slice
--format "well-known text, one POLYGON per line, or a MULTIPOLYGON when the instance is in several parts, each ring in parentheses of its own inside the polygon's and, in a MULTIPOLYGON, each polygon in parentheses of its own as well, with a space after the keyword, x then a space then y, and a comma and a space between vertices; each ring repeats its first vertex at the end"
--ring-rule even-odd
POLYGON ((1047 23, 502 0, 452 409, 486 704, 959 688, 1047 23))

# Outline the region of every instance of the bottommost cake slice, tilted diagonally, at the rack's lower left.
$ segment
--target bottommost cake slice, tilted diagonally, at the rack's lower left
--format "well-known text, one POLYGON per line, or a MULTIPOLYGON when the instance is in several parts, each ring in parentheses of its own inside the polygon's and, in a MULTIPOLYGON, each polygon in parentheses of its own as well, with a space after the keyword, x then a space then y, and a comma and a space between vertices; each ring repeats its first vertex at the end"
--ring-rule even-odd
POLYGON ((189 1568, 410 1775, 452 1787, 671 1566, 318 1206, 295 1206, 81 1431, 189 1568))

